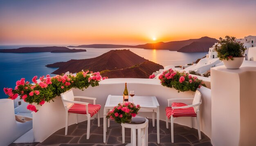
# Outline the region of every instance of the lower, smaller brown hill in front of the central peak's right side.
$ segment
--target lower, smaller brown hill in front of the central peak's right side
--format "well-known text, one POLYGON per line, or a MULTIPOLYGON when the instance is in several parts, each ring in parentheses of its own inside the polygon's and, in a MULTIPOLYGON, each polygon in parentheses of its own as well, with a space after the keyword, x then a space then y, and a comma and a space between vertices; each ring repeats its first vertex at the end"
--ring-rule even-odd
POLYGON ((108 78, 148 78, 153 72, 164 69, 164 66, 151 61, 143 62, 137 66, 126 69, 118 69, 101 73, 102 76, 108 78))

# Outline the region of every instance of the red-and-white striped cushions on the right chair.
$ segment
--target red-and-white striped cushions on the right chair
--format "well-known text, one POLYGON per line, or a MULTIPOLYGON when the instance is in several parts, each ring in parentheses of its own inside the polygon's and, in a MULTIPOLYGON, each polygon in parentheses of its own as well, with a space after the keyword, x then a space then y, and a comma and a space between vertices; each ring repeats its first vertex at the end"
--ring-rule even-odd
MULTIPOLYGON (((187 106, 187 104, 173 102, 172 106, 180 107, 180 106, 187 106)), ((170 119, 171 115, 173 115, 173 117, 196 117, 196 113, 193 107, 179 108, 174 110, 171 107, 166 107, 165 111, 168 119, 170 119)))

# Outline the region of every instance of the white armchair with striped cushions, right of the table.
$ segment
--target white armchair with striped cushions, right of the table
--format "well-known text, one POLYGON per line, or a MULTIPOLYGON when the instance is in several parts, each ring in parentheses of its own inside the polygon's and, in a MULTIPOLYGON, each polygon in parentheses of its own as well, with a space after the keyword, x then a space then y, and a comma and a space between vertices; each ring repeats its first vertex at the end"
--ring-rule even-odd
POLYGON ((173 121, 176 117, 190 117, 190 124, 192 128, 192 117, 197 117, 197 125, 198 125, 198 135, 199 139, 201 139, 200 132, 200 115, 199 108, 200 104, 202 104, 201 93, 199 91, 195 91, 194 98, 172 98, 168 99, 168 107, 165 108, 166 111, 166 128, 168 128, 168 119, 171 118, 171 142, 173 143, 173 121), (184 103, 173 102, 174 100, 193 100, 191 105, 187 105, 184 103), (170 107, 170 101, 173 103, 170 107))

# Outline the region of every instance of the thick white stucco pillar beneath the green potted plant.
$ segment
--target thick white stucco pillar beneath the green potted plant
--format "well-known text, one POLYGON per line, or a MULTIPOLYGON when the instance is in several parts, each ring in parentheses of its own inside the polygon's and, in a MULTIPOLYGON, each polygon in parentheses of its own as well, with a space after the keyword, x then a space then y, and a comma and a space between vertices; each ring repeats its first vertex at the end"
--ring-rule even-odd
POLYGON ((256 67, 211 68, 211 125, 214 146, 256 144, 256 67))

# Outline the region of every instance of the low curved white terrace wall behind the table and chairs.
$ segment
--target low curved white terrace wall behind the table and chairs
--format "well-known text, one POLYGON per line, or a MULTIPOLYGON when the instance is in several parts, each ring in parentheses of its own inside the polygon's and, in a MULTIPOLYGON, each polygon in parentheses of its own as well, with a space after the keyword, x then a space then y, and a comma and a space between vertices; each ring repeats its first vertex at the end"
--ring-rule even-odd
MULTIPOLYGON (((167 88, 156 79, 135 79, 135 78, 117 78, 107 79, 100 82, 99 86, 89 87, 84 91, 74 89, 75 95, 97 97, 96 104, 101 104, 100 116, 103 117, 103 108, 108 95, 122 95, 124 92, 124 83, 127 82, 128 90, 134 90, 135 96, 156 96, 160 105, 160 119, 165 121, 165 107, 168 98, 194 97, 193 92, 178 93, 174 88, 167 88)), ((201 131, 211 137, 211 90, 200 88, 202 93, 201 131)), ((135 97, 136 98, 136 97, 135 97)), ((38 112, 33 113, 33 130, 36 142, 42 142, 49 135, 65 126, 65 110, 60 97, 55 102, 45 103, 43 106, 37 106, 38 112)), ((150 113, 141 113, 143 116, 151 117, 150 113)), ((74 114, 69 116, 69 125, 75 123, 74 114)), ((85 120, 85 116, 79 115, 79 121, 85 120)), ((103 122, 103 121, 101 121, 103 122)), ((189 126, 188 117, 180 117, 175 122, 189 126)), ((193 119, 193 127, 196 128, 196 120, 193 119)), ((64 131, 63 131, 64 132, 64 131)), ((103 131, 102 131, 103 132, 103 131)), ((103 140, 103 139, 102 139, 103 140)))

